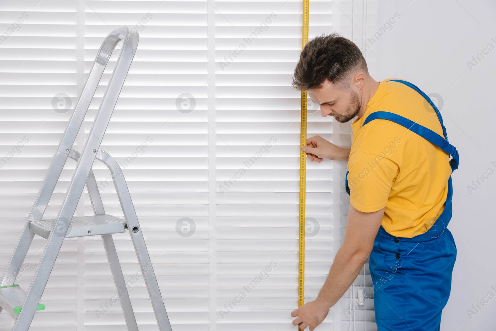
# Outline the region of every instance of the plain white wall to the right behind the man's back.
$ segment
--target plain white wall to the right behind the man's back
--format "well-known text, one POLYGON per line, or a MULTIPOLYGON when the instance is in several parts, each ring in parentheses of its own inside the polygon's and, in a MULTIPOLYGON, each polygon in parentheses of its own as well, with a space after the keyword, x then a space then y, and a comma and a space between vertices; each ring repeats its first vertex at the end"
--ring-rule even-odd
POLYGON ((486 299, 489 303, 480 305, 479 312, 472 305, 489 292, 496 295, 496 174, 480 181, 479 188, 473 186, 476 191, 469 192, 468 186, 488 168, 496 171, 496 49, 471 69, 467 62, 488 44, 496 47, 496 2, 381 0, 377 26, 395 12, 401 18, 374 45, 374 78, 403 78, 427 94, 440 95, 448 140, 460 153, 453 174, 456 206, 448 226, 458 253, 441 331, 495 330, 496 298, 486 299), (470 318, 468 309, 477 314, 470 318))

